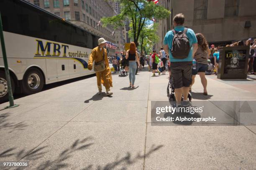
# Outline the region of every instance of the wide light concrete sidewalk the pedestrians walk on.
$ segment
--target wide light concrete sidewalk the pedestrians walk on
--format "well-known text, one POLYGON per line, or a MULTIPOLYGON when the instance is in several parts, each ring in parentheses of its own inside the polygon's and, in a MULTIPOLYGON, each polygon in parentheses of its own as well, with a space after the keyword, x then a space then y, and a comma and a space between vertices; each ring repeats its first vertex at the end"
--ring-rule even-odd
MULTIPOLYGON (((166 77, 144 69, 132 90, 115 74, 113 97, 96 95, 91 77, 15 100, 19 107, 0 111, 0 162, 28 161, 28 170, 256 169, 256 126, 151 126, 151 100, 168 100, 166 77)), ((210 75, 204 96, 197 76, 193 100, 256 101, 255 79, 210 75)))

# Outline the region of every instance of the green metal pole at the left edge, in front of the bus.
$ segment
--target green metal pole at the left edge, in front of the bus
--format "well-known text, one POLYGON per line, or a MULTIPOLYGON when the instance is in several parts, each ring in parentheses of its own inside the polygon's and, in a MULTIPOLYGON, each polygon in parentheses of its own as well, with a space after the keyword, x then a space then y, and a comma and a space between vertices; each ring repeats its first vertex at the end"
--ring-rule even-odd
POLYGON ((5 51, 5 41, 4 41, 4 37, 3 37, 3 24, 2 24, 2 19, 1 19, 1 13, 0 13, 0 39, 1 39, 1 46, 2 46, 2 52, 3 52, 3 60, 4 60, 4 64, 5 64, 5 77, 6 77, 7 85, 8 85, 9 102, 10 102, 10 106, 8 106, 6 108, 16 107, 18 105, 14 105, 14 101, 13 101, 13 90, 12 90, 12 85, 11 85, 11 81, 10 81, 10 72, 9 72, 9 67, 8 67, 6 51, 5 51))

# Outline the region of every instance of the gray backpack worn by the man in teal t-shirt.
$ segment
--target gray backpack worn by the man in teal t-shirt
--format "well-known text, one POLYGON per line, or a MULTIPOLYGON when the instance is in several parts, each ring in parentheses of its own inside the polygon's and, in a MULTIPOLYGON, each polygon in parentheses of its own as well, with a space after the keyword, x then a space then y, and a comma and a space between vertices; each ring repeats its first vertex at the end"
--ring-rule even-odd
POLYGON ((184 59, 189 55, 191 49, 189 45, 189 38, 187 37, 187 28, 184 28, 184 31, 179 31, 178 33, 175 30, 172 30, 174 37, 172 39, 172 56, 176 59, 184 59))

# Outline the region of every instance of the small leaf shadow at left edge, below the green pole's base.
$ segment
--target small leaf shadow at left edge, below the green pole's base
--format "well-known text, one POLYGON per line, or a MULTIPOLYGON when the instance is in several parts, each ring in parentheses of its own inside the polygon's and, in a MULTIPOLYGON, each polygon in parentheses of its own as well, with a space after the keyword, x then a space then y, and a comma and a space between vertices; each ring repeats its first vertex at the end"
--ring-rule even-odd
POLYGON ((14 130, 25 130, 28 125, 24 122, 8 122, 10 115, 10 112, 0 114, 0 130, 10 130, 9 133, 14 130))

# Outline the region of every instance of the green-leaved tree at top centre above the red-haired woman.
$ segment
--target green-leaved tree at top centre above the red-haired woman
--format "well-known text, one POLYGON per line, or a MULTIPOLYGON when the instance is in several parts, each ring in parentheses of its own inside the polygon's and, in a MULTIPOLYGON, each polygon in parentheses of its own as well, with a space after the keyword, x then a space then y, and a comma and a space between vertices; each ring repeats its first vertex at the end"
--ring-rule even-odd
POLYGON ((124 25, 125 19, 131 20, 131 30, 133 32, 133 41, 138 46, 141 30, 146 25, 146 20, 161 20, 170 15, 170 11, 164 7, 155 5, 146 0, 114 0, 119 1, 121 13, 113 17, 104 17, 101 19, 103 27, 108 24, 113 25, 115 29, 124 25))

